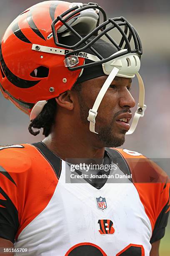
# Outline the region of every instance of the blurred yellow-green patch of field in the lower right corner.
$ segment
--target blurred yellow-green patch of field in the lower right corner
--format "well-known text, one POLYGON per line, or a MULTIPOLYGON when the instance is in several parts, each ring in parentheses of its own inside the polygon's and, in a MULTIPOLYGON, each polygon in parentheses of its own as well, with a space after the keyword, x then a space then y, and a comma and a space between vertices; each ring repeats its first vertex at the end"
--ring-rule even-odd
POLYGON ((160 256, 170 256, 170 220, 160 242, 160 256))

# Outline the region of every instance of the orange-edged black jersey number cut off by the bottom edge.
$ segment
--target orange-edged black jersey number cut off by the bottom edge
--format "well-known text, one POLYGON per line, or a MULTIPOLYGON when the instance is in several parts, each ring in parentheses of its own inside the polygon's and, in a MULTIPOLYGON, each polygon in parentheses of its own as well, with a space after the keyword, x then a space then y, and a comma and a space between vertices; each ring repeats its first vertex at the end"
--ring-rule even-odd
MULTIPOLYGON (((77 243, 72 246, 65 256, 107 256, 107 254, 94 243, 77 243)), ((130 243, 122 251, 116 254, 116 256, 145 256, 145 251, 142 245, 130 243)))

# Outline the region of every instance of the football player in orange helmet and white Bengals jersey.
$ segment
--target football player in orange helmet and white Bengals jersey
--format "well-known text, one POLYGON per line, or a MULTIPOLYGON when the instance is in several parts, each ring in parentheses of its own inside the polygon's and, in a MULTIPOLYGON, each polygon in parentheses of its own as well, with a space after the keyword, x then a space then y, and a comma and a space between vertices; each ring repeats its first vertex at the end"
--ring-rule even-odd
POLYGON ((107 19, 96 3, 38 3, 7 28, 0 90, 30 115, 30 133, 42 128, 45 138, 0 148, 5 252, 158 256, 168 177, 142 154, 116 149, 146 108, 141 54, 128 20, 107 19), (140 93, 130 126, 135 75, 140 93))

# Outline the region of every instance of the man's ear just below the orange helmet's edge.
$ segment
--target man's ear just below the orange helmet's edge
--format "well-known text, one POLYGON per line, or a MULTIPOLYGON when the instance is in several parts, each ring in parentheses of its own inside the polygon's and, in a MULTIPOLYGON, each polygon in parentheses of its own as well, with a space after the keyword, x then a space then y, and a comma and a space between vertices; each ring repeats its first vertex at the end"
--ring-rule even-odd
POLYGON ((67 110, 73 110, 74 108, 72 92, 70 90, 62 92, 58 97, 55 98, 55 100, 62 108, 66 108, 67 110))

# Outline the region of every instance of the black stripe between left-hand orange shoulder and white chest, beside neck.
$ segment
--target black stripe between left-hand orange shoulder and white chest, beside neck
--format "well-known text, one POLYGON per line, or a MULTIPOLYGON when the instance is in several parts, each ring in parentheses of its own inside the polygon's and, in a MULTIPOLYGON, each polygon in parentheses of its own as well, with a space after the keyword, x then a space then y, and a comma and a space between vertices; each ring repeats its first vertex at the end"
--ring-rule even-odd
POLYGON ((47 159, 49 164, 52 166, 52 169, 55 171, 57 178, 59 179, 62 164, 62 160, 60 159, 60 157, 58 157, 52 151, 50 151, 50 149, 48 149, 42 141, 32 143, 31 145, 35 146, 40 151, 40 153, 45 157, 45 159, 47 159))

